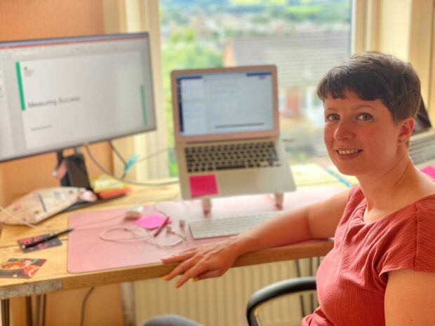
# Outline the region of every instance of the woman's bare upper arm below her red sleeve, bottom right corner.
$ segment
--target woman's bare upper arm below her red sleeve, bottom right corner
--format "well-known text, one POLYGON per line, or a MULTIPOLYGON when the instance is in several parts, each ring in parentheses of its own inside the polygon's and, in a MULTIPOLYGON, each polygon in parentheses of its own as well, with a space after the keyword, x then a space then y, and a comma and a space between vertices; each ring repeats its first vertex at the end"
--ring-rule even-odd
POLYGON ((389 272, 384 304, 386 326, 434 326, 435 273, 389 272))

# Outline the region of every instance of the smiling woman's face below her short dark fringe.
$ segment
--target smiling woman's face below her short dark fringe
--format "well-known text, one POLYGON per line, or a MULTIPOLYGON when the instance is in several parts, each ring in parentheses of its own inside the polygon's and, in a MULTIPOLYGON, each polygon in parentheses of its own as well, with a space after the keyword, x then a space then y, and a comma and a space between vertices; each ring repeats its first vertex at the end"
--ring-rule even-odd
MULTIPOLYGON (((344 175, 382 175, 396 164, 403 123, 394 123, 381 100, 361 100, 354 93, 327 97, 324 140, 328 154, 344 175)), ((411 127, 412 128, 412 127, 411 127)), ((400 143, 402 140, 403 143, 400 143)))

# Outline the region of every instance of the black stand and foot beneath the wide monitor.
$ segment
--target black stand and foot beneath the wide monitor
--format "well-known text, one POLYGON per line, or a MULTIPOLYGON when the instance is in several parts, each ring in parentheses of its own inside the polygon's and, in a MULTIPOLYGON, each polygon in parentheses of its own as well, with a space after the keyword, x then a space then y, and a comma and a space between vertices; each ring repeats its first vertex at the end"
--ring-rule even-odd
MULTIPOLYGON (((61 186, 76 186, 81 188, 86 188, 89 191, 91 189, 91 183, 89 182, 88 170, 86 169, 85 158, 83 154, 81 154, 79 147, 74 149, 74 154, 70 156, 63 156, 63 152, 56 152, 58 158, 58 168, 65 164, 66 172, 65 175, 60 179, 61 186)), ((103 201, 110 201, 114 198, 119 198, 121 196, 125 196, 125 193, 119 193, 109 198, 100 198, 97 195, 96 201, 83 201, 79 199, 77 203, 69 206, 69 208, 65 209, 65 211, 69 210, 77 210, 79 208, 84 208, 89 205, 102 203, 103 201)))

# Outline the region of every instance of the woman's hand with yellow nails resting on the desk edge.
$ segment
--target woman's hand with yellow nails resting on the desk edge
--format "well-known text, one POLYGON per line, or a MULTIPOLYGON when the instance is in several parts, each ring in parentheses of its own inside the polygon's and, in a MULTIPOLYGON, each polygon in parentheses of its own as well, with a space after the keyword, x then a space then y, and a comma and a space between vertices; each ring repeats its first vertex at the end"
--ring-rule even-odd
POLYGON ((180 287, 189 278, 203 280, 222 276, 239 257, 235 247, 235 241, 230 238, 219 243, 194 247, 180 254, 164 258, 162 259, 163 264, 181 262, 166 276, 165 280, 172 280, 175 276, 181 275, 181 278, 175 283, 175 287, 180 287))

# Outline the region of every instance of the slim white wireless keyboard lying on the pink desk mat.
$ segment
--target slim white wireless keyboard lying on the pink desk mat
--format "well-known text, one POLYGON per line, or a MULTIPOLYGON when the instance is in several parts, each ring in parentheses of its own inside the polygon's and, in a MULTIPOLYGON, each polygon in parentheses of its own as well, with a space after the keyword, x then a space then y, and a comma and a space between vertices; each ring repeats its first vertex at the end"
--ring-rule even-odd
POLYGON ((256 212, 244 215, 234 215, 231 217, 201 219, 200 221, 189 222, 192 238, 215 238, 218 236, 234 236, 257 224, 266 221, 270 217, 280 214, 281 212, 256 212))

